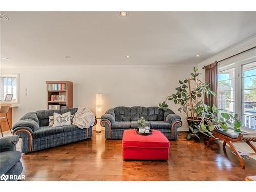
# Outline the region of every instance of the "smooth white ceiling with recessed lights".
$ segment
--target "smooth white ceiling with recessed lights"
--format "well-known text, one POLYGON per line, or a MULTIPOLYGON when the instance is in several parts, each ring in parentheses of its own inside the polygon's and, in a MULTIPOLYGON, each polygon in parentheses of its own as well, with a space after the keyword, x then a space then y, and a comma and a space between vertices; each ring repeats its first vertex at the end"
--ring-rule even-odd
POLYGON ((256 12, 2 13, 3 66, 195 65, 256 34, 256 12))

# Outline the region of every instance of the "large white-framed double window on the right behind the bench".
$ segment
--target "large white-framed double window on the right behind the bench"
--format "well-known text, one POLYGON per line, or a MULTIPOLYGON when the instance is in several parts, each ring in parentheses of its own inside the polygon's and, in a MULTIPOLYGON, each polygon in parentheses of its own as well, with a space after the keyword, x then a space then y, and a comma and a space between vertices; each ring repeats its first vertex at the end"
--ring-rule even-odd
POLYGON ((222 65, 218 69, 218 108, 220 113, 238 114, 242 128, 256 131, 255 57, 222 65))

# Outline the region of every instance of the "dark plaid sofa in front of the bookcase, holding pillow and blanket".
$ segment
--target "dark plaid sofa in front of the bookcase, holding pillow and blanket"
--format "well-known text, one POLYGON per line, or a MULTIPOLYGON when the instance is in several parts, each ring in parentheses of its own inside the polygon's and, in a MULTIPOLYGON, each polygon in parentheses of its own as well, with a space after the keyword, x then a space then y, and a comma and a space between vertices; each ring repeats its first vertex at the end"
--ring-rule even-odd
MULTIPOLYGON (((77 112, 77 108, 30 112, 13 125, 13 135, 22 138, 22 153, 92 138, 92 126, 89 129, 79 129, 73 124, 48 126, 49 116, 53 116, 54 112, 58 114, 70 112, 73 115, 77 112)), ((96 122, 95 120, 94 125, 96 122)))

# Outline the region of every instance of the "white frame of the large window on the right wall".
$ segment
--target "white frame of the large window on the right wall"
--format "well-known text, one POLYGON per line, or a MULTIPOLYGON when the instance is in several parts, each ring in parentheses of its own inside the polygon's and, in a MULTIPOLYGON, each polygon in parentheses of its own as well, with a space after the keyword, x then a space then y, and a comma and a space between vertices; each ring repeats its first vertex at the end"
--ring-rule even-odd
MULTIPOLYGON (((244 60, 240 60, 240 61, 237 61, 237 62, 220 62, 220 66, 218 67, 218 72, 221 72, 221 71, 224 71, 224 70, 228 70, 228 69, 231 69, 231 68, 234 68, 234 87, 236 88, 235 92, 234 92, 234 100, 235 100, 235 103, 238 103, 238 104, 235 104, 235 110, 234 110, 234 113, 237 113, 238 114, 238 118, 239 120, 241 120, 241 130, 244 131, 244 132, 255 132, 256 133, 256 130, 252 129, 252 128, 249 128, 249 127, 245 127, 243 126, 243 123, 242 123, 242 96, 243 96, 243 88, 242 88, 242 73, 243 73, 243 65, 246 65, 246 64, 249 64, 251 62, 256 62, 256 57, 251 57, 249 59, 244 59, 244 60)), ((218 89, 218 88, 217 88, 218 89)), ((217 93, 218 93, 218 90, 217 90, 217 93)), ((232 128, 232 125, 229 125, 230 128, 232 128)))

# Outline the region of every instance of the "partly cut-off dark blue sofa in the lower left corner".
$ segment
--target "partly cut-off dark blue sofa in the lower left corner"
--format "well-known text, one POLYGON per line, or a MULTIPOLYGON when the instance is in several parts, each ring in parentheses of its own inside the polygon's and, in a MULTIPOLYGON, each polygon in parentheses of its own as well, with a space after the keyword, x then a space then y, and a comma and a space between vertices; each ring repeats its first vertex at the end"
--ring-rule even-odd
POLYGON ((0 138, 0 181, 15 181, 22 174, 22 153, 16 151, 18 140, 18 136, 0 138))

